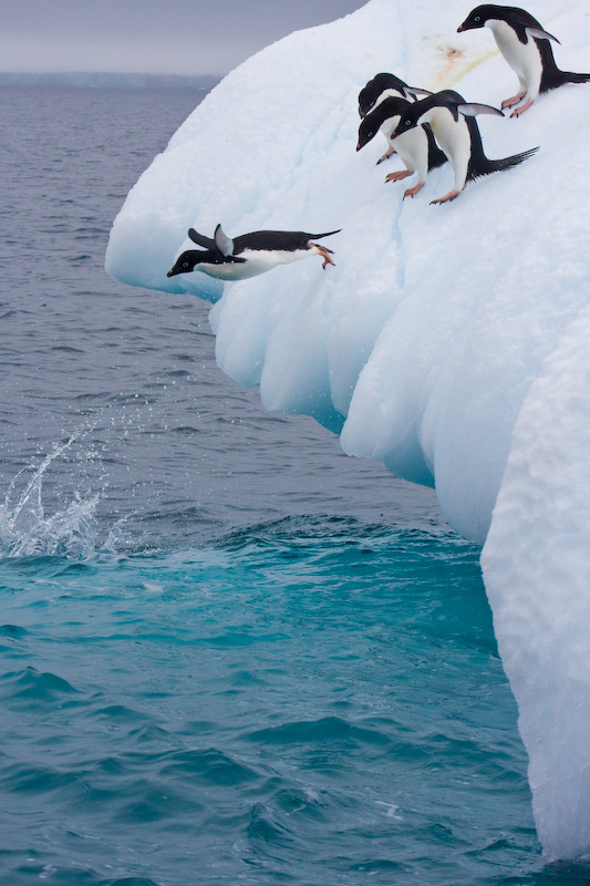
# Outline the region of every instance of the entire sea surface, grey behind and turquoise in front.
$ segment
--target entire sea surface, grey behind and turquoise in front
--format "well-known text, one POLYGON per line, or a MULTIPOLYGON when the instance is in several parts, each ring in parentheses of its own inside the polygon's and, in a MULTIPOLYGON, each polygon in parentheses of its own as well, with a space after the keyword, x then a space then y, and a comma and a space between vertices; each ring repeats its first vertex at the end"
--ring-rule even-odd
POLYGON ((0 883, 588 883, 542 865, 478 548, 104 272, 200 97, 0 87, 0 883))

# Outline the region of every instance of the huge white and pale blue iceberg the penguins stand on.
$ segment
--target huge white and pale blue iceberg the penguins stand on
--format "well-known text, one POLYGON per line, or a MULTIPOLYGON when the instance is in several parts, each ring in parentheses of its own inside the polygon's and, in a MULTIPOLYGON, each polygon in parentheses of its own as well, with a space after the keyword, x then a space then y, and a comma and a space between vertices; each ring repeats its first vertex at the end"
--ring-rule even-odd
MULTIPOLYGON (((266 409, 307 413, 354 456, 436 488, 483 570, 529 754, 546 857, 590 853, 590 86, 516 120, 478 117, 486 154, 539 146, 453 203, 448 165, 415 197, 376 137, 355 152, 360 89, 391 71, 499 106, 516 78, 470 6, 370 0, 226 76, 113 224, 118 280, 213 302, 220 368, 266 409), (189 227, 333 230, 319 259, 222 285, 167 278, 189 227)), ((590 70, 581 0, 537 0, 560 68, 590 70)), ((397 165, 396 165, 397 164, 397 165)), ((407 179, 413 184, 412 179, 407 179)), ((386 490, 383 495, 386 496, 386 490)))

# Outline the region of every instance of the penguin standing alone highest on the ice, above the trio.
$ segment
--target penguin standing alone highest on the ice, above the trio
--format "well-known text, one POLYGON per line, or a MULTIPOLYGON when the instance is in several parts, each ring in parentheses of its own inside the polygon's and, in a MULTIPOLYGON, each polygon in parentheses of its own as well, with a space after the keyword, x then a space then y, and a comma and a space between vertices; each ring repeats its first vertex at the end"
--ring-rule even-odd
POLYGON ((518 76, 519 90, 516 95, 505 99, 505 107, 514 107, 511 116, 518 117, 528 111, 532 102, 544 92, 549 92, 565 83, 588 83, 590 74, 575 74, 560 71, 553 59, 551 40, 557 37, 548 33, 529 12, 517 7, 498 7, 493 3, 476 7, 457 31, 475 28, 489 28, 498 49, 518 76), (524 102, 520 104, 520 102, 524 102))

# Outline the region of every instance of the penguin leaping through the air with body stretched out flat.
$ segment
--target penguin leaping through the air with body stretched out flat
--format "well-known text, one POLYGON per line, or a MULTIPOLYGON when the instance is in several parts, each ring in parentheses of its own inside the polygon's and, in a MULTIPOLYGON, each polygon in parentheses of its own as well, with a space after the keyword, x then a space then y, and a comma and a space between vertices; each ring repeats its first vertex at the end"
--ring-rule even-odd
POLYGON ((231 239, 217 225, 215 236, 205 237, 195 228, 189 228, 188 236, 203 249, 187 249, 176 259, 174 267, 166 275, 190 274, 200 270, 209 277, 220 280, 244 280, 272 270, 278 265, 287 265, 308 256, 322 256, 323 265, 333 265, 332 250, 318 246, 312 240, 339 234, 329 230, 327 234, 306 234, 302 230, 256 230, 231 239))

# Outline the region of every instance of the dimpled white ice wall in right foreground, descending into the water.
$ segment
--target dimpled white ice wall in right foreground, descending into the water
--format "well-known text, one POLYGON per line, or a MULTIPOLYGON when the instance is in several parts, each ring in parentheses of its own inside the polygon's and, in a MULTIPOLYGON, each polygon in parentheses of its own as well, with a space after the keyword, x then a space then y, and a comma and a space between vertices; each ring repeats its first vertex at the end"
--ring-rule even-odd
POLYGON ((590 849, 589 342, 587 305, 520 410, 482 558, 553 858, 590 849))

